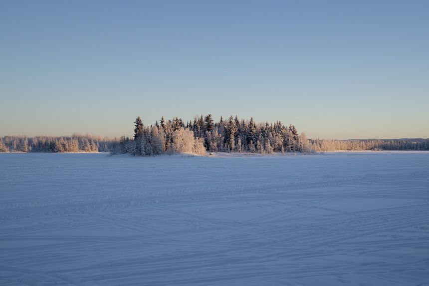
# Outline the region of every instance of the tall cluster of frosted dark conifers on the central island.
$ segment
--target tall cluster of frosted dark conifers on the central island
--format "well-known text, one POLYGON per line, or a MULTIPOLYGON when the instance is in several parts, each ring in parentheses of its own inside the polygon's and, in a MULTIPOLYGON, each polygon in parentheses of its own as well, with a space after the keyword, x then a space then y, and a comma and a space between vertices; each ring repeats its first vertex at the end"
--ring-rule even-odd
POLYGON ((214 122, 212 115, 201 115, 194 120, 184 122, 175 117, 154 125, 143 125, 140 117, 134 122, 133 138, 121 137, 113 153, 129 153, 139 156, 151 156, 164 153, 212 152, 309 152, 311 146, 305 134, 298 135, 294 125, 289 127, 280 121, 269 124, 255 123, 250 120, 229 116, 220 117, 214 122))

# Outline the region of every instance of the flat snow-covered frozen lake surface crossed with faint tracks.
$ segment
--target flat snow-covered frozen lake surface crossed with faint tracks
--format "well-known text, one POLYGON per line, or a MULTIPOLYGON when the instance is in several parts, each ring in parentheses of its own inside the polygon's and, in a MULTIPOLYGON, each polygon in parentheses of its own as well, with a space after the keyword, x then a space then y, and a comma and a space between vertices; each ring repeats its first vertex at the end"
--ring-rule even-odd
POLYGON ((429 153, 0 154, 0 285, 429 285, 429 153))

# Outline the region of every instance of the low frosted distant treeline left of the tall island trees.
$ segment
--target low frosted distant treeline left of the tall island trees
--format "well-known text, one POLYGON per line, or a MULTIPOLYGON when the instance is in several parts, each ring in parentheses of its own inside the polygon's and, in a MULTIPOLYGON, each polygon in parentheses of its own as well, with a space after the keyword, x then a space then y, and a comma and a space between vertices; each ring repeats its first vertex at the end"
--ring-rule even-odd
POLYGON ((116 139, 93 135, 72 136, 4 136, 0 137, 0 152, 110 152, 116 139))

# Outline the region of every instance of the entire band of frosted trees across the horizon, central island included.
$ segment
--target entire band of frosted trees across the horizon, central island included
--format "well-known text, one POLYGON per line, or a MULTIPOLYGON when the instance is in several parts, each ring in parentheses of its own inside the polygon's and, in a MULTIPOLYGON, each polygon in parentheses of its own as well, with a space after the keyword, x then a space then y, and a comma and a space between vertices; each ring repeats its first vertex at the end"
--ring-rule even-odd
POLYGON ((152 156, 172 153, 205 154, 209 152, 314 152, 339 150, 429 150, 429 139, 307 139, 298 135, 294 125, 255 123, 229 116, 214 122, 212 115, 161 120, 143 125, 140 117, 134 122, 134 136, 120 139, 93 135, 72 136, 4 136, 0 152, 111 152, 152 156))

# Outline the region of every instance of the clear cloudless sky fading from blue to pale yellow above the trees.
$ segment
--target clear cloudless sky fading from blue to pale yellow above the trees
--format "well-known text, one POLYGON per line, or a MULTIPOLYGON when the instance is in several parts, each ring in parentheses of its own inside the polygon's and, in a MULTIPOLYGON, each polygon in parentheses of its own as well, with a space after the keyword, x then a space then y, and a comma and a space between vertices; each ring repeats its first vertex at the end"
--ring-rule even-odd
POLYGON ((429 138, 429 1, 1 0, 0 136, 212 113, 429 138))

